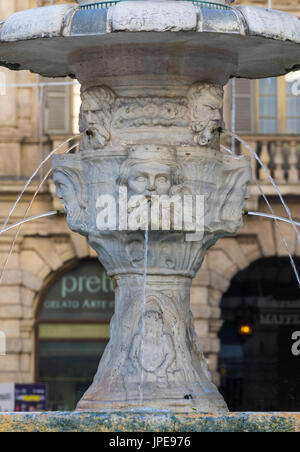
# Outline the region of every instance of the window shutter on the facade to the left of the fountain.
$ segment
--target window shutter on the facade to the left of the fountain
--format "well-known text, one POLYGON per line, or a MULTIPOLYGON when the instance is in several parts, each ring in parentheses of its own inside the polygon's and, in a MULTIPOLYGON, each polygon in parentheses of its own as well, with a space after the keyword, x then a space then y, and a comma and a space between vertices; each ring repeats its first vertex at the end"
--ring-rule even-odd
MULTIPOLYGON (((67 82, 67 78, 48 79, 44 81, 67 82)), ((45 133, 49 135, 64 135, 71 129, 71 86, 50 85, 44 88, 45 100, 45 133)))

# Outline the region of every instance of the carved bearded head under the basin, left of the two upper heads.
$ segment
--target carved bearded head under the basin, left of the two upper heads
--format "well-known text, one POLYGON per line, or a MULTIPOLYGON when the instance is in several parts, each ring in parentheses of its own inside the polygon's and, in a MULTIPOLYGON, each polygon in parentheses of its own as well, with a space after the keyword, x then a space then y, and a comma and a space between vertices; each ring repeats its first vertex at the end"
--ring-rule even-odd
POLYGON ((102 149, 111 138, 110 127, 116 96, 110 88, 98 86, 83 91, 81 97, 81 149, 102 149))

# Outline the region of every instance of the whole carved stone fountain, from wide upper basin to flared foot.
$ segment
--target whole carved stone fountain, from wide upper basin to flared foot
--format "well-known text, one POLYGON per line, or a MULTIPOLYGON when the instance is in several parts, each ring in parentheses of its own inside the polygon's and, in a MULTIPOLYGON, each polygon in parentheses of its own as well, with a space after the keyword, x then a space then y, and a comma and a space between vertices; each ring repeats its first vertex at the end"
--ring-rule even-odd
POLYGON ((223 86, 299 69, 299 20, 232 1, 78 3, 16 13, 0 34, 3 66, 82 85, 80 152, 53 158, 54 180, 69 227, 113 278, 116 307, 78 409, 226 412, 190 311, 192 278, 241 227, 251 180, 248 157, 220 150, 223 86), (147 212, 160 196, 198 197, 203 228, 153 228, 149 217, 129 227, 141 203, 127 195, 147 212))

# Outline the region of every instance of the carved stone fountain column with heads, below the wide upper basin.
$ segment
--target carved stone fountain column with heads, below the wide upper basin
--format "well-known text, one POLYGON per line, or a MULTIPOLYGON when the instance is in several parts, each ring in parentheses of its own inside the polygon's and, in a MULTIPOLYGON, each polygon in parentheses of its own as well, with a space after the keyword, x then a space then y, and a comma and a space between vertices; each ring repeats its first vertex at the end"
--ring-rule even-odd
POLYGON ((222 74, 208 62, 207 83, 197 81, 193 49, 178 59, 180 49, 137 47, 72 56, 83 137, 78 154, 53 159, 68 224, 88 238, 116 287, 111 339, 78 408, 226 411, 194 330, 190 286, 206 250, 241 226, 250 180, 248 157, 219 147, 228 56, 222 74), (172 222, 173 230, 151 230, 147 221, 146 258, 145 231, 121 225, 121 203, 106 212, 114 227, 99 227, 99 199, 118 200, 120 189, 150 207, 153 196, 203 196, 204 231, 172 222))

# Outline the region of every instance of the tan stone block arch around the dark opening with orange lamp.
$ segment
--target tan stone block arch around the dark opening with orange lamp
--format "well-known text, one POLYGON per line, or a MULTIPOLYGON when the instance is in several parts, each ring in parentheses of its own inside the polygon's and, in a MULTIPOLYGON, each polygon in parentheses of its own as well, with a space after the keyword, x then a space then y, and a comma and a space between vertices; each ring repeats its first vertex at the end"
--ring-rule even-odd
MULTIPOLYGON (((263 207, 259 207, 258 210, 263 210, 263 207)), ((274 210, 276 212, 278 206, 274 206, 274 210)), ((280 210, 278 214, 284 216, 280 210)), ((300 256, 300 245, 292 227, 282 223, 280 229, 286 237, 291 253, 300 256)), ((223 295, 235 275, 249 267, 252 262, 263 257, 279 258, 287 255, 286 247, 274 222, 257 217, 247 218, 237 237, 221 239, 208 251, 201 269, 193 280, 191 308, 195 317, 195 328, 216 385, 220 385, 218 333, 223 324, 220 308, 223 295)))

